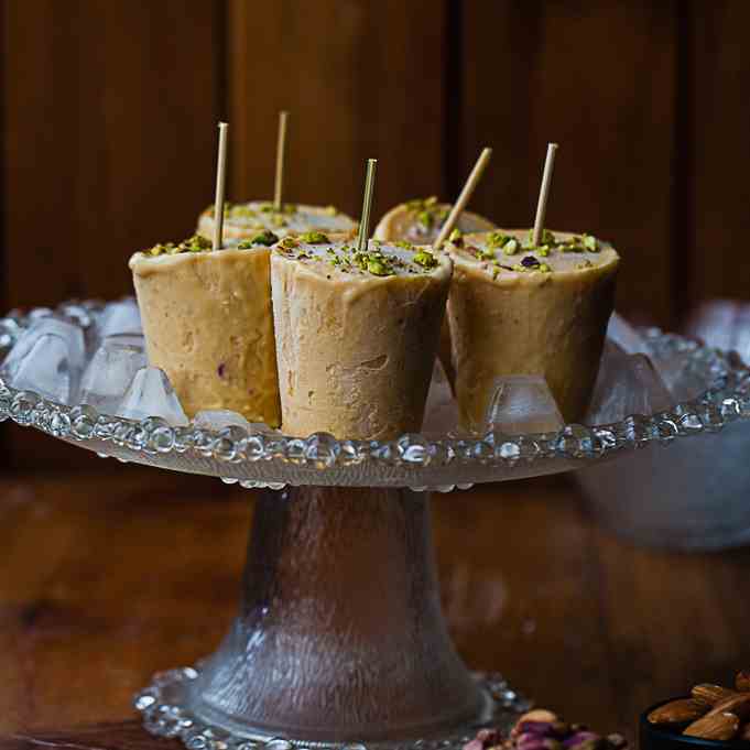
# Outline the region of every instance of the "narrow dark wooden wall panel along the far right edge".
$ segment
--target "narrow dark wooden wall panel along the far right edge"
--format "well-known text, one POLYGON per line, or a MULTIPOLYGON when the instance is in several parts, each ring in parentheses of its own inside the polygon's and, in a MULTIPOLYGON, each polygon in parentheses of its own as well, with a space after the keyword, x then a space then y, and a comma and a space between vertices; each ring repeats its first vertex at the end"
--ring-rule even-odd
POLYGON ((681 218, 689 227, 683 258, 692 259, 691 297, 748 300, 750 55, 743 32, 750 3, 721 0, 687 8, 689 205, 681 218))

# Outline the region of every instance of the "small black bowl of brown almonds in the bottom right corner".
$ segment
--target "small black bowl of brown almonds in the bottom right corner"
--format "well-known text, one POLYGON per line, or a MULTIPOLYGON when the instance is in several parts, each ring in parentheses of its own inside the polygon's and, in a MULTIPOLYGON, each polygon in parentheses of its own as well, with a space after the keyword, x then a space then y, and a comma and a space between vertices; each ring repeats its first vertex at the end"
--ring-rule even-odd
POLYGON ((750 670, 733 687, 702 683, 691 694, 664 700, 641 716, 641 750, 703 747, 750 748, 750 670))

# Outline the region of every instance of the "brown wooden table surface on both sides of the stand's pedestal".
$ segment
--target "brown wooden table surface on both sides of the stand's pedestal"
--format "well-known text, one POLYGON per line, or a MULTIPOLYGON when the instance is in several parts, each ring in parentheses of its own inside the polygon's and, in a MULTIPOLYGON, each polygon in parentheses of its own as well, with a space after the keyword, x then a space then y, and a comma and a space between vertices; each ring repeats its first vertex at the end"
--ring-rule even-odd
MULTIPOLYGON (((0 748, 177 747, 132 694, 227 630, 253 493, 109 463, 0 478, 0 748)), ((639 711, 750 664, 750 551, 638 550, 568 477, 436 496, 448 620, 472 667, 633 736, 639 711)))

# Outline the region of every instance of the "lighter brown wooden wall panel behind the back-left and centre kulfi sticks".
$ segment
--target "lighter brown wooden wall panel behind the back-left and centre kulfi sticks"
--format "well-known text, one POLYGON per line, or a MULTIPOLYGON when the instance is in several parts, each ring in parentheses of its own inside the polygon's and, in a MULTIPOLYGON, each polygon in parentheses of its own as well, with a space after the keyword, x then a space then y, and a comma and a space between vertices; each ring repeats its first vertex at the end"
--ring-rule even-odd
POLYGON ((229 0, 231 199, 271 197, 278 111, 290 110, 285 199, 373 219, 443 192, 446 2, 229 0))

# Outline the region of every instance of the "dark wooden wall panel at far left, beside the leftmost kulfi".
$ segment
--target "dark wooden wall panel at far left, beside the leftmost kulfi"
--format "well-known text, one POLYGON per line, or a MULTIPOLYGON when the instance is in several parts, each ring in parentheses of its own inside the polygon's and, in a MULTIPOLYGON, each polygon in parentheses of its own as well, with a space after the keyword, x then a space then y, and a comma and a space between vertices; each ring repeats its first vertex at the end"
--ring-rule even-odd
MULTIPOLYGON (((130 293, 129 256, 193 230, 213 196, 218 11, 4 3, 7 306, 130 293)), ((90 460, 31 431, 12 445, 18 466, 90 460)))

